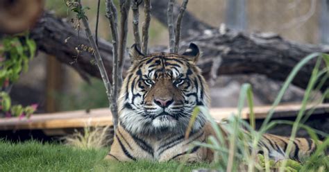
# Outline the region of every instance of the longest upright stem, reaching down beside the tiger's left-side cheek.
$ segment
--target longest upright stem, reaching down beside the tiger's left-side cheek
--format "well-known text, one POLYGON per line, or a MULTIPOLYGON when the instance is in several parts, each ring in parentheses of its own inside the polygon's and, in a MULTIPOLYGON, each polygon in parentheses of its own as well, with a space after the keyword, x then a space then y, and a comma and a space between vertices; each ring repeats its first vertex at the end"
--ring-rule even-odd
POLYGON ((106 17, 110 22, 110 28, 112 33, 112 44, 113 44, 113 68, 112 68, 112 95, 110 99, 110 109, 113 117, 113 127, 117 128, 117 119, 118 119, 118 110, 117 110, 117 92, 118 92, 118 74, 119 74, 119 66, 118 66, 118 32, 117 32, 117 8, 115 8, 112 0, 106 1, 106 17))

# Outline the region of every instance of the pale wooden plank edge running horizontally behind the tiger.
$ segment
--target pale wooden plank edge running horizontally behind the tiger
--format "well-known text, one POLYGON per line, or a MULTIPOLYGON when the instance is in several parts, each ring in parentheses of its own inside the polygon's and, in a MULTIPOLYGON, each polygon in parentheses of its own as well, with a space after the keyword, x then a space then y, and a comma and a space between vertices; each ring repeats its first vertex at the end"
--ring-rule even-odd
MULTIPOLYGON (((307 107, 311 109, 312 105, 307 107)), ((301 105, 279 105, 273 114, 273 118, 296 117, 301 105)), ((264 119, 271 106, 255 107, 256 119, 264 119)), ((210 114, 216 120, 229 117, 237 112, 237 108, 212 108, 210 114)), ((312 115, 329 115, 329 103, 317 105, 312 115)), ((248 119, 248 108, 242 111, 242 118, 248 119)), ((329 117, 329 116, 328 116, 329 117)), ((52 114, 35 114, 30 119, 0 119, 0 130, 35 130, 58 128, 83 128, 85 126, 112 125, 112 116, 108 108, 90 110, 78 110, 73 112, 58 112, 52 114)))

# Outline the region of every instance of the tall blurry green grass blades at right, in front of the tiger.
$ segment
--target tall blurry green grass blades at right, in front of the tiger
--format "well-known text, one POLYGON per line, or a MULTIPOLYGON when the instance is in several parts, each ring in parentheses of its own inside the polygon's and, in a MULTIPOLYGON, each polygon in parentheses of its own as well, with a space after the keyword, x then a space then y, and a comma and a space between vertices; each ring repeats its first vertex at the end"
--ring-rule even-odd
MULTIPOLYGON (((326 81, 328 80, 328 60, 329 55, 312 53, 311 55, 307 55, 307 57, 301 60, 301 62, 299 62, 296 67, 294 67, 292 72, 287 77, 287 80, 285 81, 284 85, 282 86, 282 89, 280 90, 276 101, 273 103, 273 107, 271 108, 269 114, 267 115, 267 118, 264 120, 259 131, 255 130, 255 117, 253 114, 252 98, 253 94, 251 91, 251 85, 249 84, 244 84, 242 86, 242 90, 239 96, 237 114, 233 114, 233 116, 228 119, 228 123, 221 123, 221 127, 228 132, 228 137, 224 137, 221 128, 217 126, 217 123, 214 121, 214 119, 212 119, 208 110, 206 110, 204 107, 197 107, 203 114, 207 115, 218 139, 210 136, 208 138, 207 143, 196 142, 194 144, 206 148, 211 148, 212 150, 214 150, 214 162, 216 162, 217 169, 219 171, 271 171, 274 169, 276 171, 329 171, 328 162, 326 162, 329 157, 323 156, 323 150, 326 150, 329 145, 328 133, 323 133, 303 125, 303 122, 306 121, 308 117, 310 117, 310 114, 312 114, 312 110, 310 110, 310 112, 305 113, 306 105, 309 105, 309 101, 311 98, 310 93, 314 89, 319 91, 323 84, 326 83, 326 81), (305 90, 301 110, 298 112, 296 121, 294 121, 294 123, 283 120, 270 121, 275 107, 280 103, 280 100, 283 94, 285 93, 285 90, 292 83, 294 76, 296 76, 301 67, 307 64, 307 62, 309 62, 310 60, 314 59, 317 60, 317 65, 315 65, 312 71, 312 76, 310 78, 310 82, 307 86, 307 89, 305 90), (321 60, 325 62, 326 67, 321 68, 321 60), (241 119, 241 112, 242 108, 244 107, 245 100, 248 102, 248 107, 250 110, 251 121, 249 122, 251 123, 251 126, 249 123, 241 119), (260 138, 263 133, 265 133, 270 128, 273 128, 278 123, 290 124, 293 126, 293 129, 290 141, 287 146, 287 150, 285 152, 285 160, 273 162, 272 160, 269 160, 268 153, 266 150, 264 150, 264 156, 258 155, 258 150, 262 150, 262 148, 258 146, 258 142, 260 141, 260 138), (303 162, 289 160, 287 156, 291 151, 293 144, 292 141, 294 140, 294 138, 296 138, 296 132, 299 128, 304 128, 305 130, 307 130, 310 137, 316 141, 319 141, 317 134, 326 137, 326 139, 323 141, 323 144, 317 146, 317 150, 315 151, 315 153, 311 157, 306 158, 303 162), (246 132, 246 130, 248 132, 246 132), (227 142, 228 144, 226 144, 227 142)), ((315 102, 322 103, 328 96, 328 92, 329 88, 325 88, 322 97, 315 102)), ((315 105, 312 104, 312 106, 315 105)))

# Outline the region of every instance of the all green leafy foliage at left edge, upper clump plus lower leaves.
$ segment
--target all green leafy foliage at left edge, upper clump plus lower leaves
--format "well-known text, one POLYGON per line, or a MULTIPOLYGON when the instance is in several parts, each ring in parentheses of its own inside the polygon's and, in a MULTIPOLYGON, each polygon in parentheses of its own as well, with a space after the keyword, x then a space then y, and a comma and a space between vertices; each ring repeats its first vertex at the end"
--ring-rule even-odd
MULTIPOLYGON (((36 45, 28 35, 5 36, 0 44, 0 91, 8 91, 22 71, 27 71, 29 60, 35 55, 36 45)), ((0 115, 6 117, 31 117, 37 105, 23 107, 12 105, 7 92, 0 92, 0 115)))

